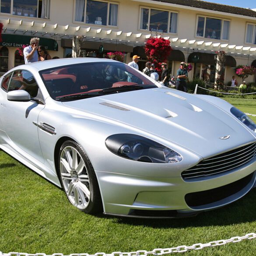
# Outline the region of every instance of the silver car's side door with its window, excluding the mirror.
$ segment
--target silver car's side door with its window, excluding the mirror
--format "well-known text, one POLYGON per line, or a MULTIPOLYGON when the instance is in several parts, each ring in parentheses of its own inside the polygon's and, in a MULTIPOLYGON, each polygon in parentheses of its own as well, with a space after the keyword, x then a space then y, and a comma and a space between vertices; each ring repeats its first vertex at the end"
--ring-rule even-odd
POLYGON ((28 157, 27 154, 43 163, 39 144, 38 121, 39 113, 45 105, 39 87, 33 75, 27 70, 16 70, 4 77, 1 83, 0 116, 2 130, 10 140, 7 144, 28 157), (19 102, 7 100, 8 91, 25 90, 31 95, 31 101, 19 102))

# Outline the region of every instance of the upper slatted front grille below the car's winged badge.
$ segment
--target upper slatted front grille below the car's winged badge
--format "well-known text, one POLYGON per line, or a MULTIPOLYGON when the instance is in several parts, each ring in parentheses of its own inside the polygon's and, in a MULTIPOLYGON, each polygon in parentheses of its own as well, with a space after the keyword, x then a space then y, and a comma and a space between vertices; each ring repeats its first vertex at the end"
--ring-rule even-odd
POLYGON ((184 180, 192 181, 194 178, 228 172, 246 164, 255 156, 256 143, 253 143, 200 161, 198 165, 187 169, 181 175, 184 180))

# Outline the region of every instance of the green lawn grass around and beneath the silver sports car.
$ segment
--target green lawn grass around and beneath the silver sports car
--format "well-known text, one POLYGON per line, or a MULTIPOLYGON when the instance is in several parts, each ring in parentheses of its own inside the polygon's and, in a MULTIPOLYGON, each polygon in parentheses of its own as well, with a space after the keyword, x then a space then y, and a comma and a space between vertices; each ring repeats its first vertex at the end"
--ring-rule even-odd
MULTIPOLYGON (((225 98, 226 99, 226 98, 225 98)), ((228 100, 229 101, 229 100, 228 100)), ((256 114, 250 100, 232 98, 256 114)), ((227 207, 193 218, 144 220, 91 216, 61 189, 0 151, 0 251, 111 253, 151 251, 256 232, 256 189, 227 207)), ((255 255, 256 239, 189 252, 200 256, 255 255)))

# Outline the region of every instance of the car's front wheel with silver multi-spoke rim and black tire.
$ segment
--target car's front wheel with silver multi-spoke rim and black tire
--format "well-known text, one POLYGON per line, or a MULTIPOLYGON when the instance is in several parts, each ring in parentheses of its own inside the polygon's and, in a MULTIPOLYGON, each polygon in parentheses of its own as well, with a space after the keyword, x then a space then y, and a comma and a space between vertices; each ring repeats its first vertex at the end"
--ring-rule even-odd
POLYGON ((60 147, 60 181, 71 204, 88 214, 102 212, 102 200, 94 168, 84 149, 73 140, 60 147))

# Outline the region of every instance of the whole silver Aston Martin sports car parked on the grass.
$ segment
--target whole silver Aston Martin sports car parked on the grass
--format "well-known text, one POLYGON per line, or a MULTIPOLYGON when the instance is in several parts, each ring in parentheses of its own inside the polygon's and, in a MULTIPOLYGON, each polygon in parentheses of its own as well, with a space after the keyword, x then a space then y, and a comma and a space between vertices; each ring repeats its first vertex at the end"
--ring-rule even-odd
POLYGON ((219 98, 90 58, 15 67, 0 87, 0 148, 86 213, 192 216, 256 186, 256 125, 219 98))

